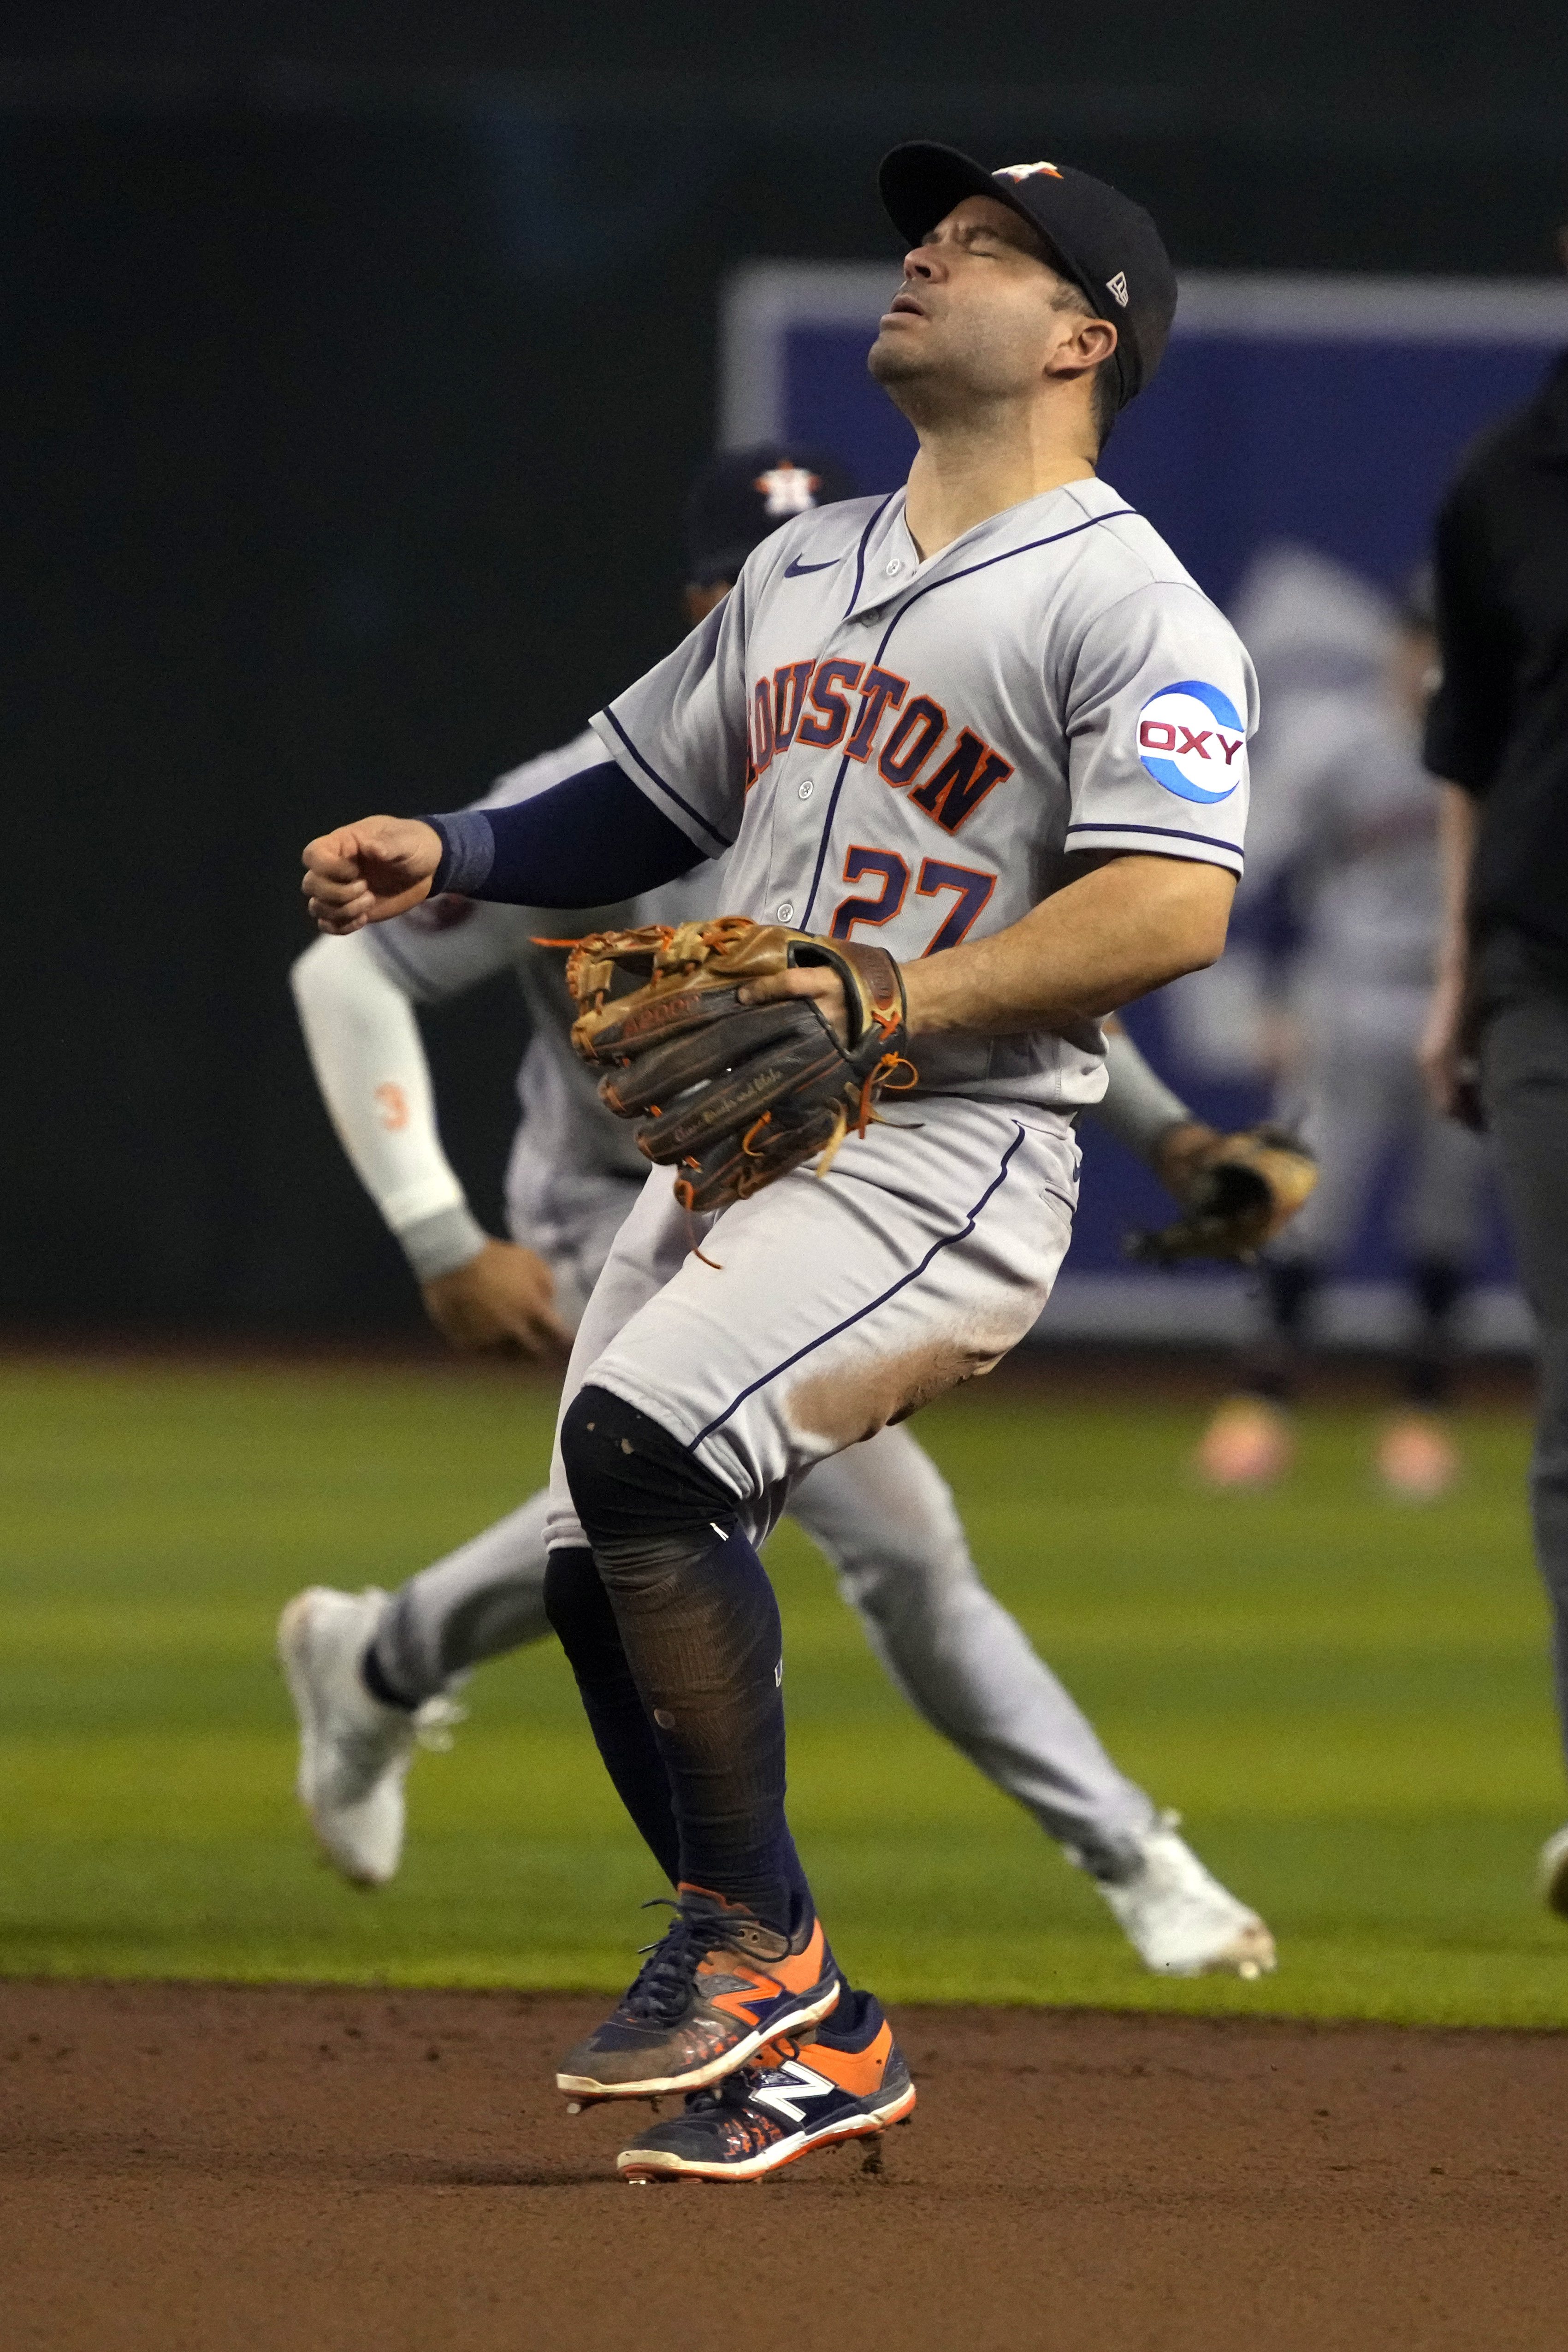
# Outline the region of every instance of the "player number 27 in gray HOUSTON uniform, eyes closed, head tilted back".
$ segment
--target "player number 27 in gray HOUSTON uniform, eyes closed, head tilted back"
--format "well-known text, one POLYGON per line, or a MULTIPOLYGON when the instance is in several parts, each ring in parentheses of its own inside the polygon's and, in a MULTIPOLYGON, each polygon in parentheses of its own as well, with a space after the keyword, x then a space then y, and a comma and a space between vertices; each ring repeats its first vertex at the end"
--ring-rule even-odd
POLYGON ((788 1830, 757 1543, 806 1472, 1032 1329, 1100 1018, 1220 955, 1241 870, 1251 663, 1095 477, 1175 306, 1154 223, 1070 167, 924 141, 882 193, 910 252, 870 367, 919 437, 905 489, 764 541, 599 713, 590 767, 306 849, 331 934, 447 889, 630 898, 731 851, 736 917, 569 960, 576 1049, 654 1162, 571 1350, 545 1571, 677 1886, 557 2072, 578 2103, 689 2093, 628 2180, 750 2178, 912 2105, 788 1830))

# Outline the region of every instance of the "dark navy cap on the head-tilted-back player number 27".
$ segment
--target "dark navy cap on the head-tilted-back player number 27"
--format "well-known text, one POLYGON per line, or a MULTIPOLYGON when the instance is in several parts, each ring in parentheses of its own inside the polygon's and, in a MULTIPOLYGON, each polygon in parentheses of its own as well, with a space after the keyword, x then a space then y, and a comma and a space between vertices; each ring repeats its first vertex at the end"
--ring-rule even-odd
POLYGON ((1154 221, 1119 188, 1070 162, 1009 162, 987 172, 971 155, 912 139, 882 158, 882 202, 893 228, 919 245, 966 195, 994 195, 1051 245, 1060 275, 1095 318, 1117 327, 1119 407, 1159 367, 1175 318, 1175 270, 1154 221))

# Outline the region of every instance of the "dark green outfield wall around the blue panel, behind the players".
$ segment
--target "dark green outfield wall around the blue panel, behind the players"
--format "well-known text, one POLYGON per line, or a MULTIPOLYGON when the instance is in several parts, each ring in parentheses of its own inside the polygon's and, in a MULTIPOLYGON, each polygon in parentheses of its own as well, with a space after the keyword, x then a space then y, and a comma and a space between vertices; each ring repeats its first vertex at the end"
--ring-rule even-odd
MULTIPOLYGON (((115 52, 12 12, 0 73, 9 1324, 409 1315, 292 1025, 299 844, 468 797, 663 649, 719 275, 893 261, 896 136, 1065 153, 1185 266, 1528 273, 1568 214, 1561 12, 1100 9, 1058 54, 1037 9, 961 49, 663 9, 658 56, 654 12, 531 56, 475 9, 395 54, 369 9, 209 14, 115 52)), ((482 1202, 520 1035, 503 990, 435 1030, 482 1202)))

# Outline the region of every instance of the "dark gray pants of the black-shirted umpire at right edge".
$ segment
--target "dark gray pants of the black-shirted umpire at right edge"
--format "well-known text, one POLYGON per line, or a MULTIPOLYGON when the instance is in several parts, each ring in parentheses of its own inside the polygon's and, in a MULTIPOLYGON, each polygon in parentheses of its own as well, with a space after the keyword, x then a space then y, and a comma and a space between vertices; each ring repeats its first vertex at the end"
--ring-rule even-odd
POLYGON ((1502 936, 1488 941, 1476 964, 1481 1098, 1497 1138, 1519 1279, 1535 1315, 1530 1510, 1568 1743, 1568 960, 1552 969, 1523 941, 1502 936))

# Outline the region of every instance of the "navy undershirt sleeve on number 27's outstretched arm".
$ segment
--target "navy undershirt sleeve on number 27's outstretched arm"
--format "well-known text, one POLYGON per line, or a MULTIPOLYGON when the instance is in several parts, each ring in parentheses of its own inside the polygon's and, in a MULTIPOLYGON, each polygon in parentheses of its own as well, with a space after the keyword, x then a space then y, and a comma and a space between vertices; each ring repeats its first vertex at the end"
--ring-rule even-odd
POLYGON ((508 809, 458 809, 425 823, 442 837, 433 898, 451 889, 508 906, 609 906, 703 863, 614 760, 508 809))

